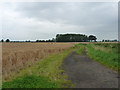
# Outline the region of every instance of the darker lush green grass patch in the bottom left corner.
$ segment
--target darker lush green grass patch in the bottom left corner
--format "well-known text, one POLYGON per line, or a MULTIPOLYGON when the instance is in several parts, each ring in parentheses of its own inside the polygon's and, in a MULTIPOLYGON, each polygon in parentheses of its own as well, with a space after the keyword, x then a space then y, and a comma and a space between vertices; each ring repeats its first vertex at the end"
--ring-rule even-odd
POLYGON ((58 88, 59 86, 49 78, 29 75, 3 83, 3 88, 58 88))

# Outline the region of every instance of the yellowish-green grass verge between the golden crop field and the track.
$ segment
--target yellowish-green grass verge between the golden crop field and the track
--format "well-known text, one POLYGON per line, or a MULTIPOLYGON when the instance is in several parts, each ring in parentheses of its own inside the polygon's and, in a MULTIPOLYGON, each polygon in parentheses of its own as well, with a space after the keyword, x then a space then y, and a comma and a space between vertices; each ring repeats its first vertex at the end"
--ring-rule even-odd
POLYGON ((37 64, 21 70, 15 77, 3 82, 3 88, 67 88, 71 82, 60 69, 64 58, 75 48, 51 55, 37 64))

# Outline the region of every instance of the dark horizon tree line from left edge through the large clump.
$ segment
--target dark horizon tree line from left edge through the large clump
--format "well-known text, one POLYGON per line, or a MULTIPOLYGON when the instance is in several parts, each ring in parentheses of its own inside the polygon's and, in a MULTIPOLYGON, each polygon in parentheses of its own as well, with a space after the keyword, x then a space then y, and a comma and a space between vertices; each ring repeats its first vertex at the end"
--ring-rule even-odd
POLYGON ((49 40, 36 40, 36 41, 10 41, 6 39, 5 41, 2 39, 1 42, 96 42, 97 37, 94 35, 84 35, 84 34, 57 34, 56 38, 52 38, 49 40))

